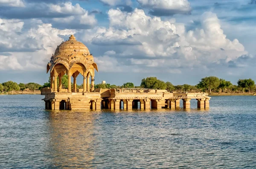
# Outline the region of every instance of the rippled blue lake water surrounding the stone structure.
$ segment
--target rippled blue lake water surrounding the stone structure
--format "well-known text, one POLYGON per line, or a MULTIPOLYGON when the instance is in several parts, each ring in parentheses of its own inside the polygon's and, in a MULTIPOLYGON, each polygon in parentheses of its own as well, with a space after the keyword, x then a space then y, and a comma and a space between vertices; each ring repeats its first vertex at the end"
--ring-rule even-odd
POLYGON ((130 112, 47 111, 43 97, 0 95, 0 169, 256 168, 256 96, 130 112))

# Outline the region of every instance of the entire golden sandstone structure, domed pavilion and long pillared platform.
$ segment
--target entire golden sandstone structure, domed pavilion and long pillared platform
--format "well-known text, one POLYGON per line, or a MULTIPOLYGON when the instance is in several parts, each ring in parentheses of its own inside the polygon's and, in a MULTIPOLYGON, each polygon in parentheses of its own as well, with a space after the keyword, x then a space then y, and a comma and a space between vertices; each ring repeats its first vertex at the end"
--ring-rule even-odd
POLYGON ((43 88, 45 109, 100 110, 100 109, 190 109, 190 100, 198 100, 198 108, 209 108, 208 94, 170 93, 156 89, 94 89, 95 70, 98 66, 88 48, 74 35, 62 42, 47 64, 51 87, 43 88), (68 89, 62 89, 61 77, 68 76, 68 89), (76 77, 82 74, 83 89, 76 89, 76 77), (73 77, 73 88, 71 87, 73 77), (57 78, 59 77, 59 78, 57 78), (57 80, 59 80, 57 82, 57 80))

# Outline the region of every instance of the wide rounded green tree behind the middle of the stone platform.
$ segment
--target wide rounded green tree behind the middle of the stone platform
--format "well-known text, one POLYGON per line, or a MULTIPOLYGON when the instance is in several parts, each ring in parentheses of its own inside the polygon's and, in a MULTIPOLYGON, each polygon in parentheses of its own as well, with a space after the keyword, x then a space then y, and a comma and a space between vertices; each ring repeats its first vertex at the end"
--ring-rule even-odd
POLYGON ((146 89, 166 89, 164 81, 158 80, 157 77, 147 77, 141 80, 140 86, 146 89))

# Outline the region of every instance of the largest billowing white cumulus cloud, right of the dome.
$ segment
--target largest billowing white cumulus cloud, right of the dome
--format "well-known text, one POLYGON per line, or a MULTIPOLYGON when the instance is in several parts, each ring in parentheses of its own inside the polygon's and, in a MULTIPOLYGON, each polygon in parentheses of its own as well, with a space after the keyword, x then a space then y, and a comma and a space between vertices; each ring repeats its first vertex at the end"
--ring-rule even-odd
POLYGON ((207 70, 212 64, 223 66, 225 63, 228 67, 230 61, 247 54, 237 39, 226 37, 218 17, 212 12, 202 14, 201 29, 188 32, 182 23, 150 17, 141 9, 131 13, 110 9, 108 16, 110 26, 85 31, 84 42, 108 45, 108 51, 115 54, 105 54, 107 56, 98 61, 111 60, 111 66, 113 63, 125 66, 126 69, 122 67, 119 71, 180 73, 188 69, 207 70))

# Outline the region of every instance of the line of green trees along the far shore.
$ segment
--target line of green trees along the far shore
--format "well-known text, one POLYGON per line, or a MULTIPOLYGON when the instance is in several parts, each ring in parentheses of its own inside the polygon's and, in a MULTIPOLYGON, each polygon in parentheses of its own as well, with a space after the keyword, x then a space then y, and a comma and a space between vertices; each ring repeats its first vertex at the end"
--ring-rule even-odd
MULTIPOLYGON (((57 78, 57 83, 59 82, 57 78)), ((61 79, 62 88, 67 89, 68 87, 68 77, 64 75, 61 79)), ((73 84, 71 85, 73 87, 73 84)), ((40 85, 38 83, 19 83, 8 81, 0 83, 0 91, 9 92, 12 90, 35 90, 41 89, 44 87, 50 87, 50 77, 48 82, 40 85)), ((230 81, 219 79, 215 76, 204 77, 199 81, 195 86, 189 84, 177 85, 174 86, 171 82, 164 82, 157 79, 157 77, 147 77, 141 80, 140 86, 134 86, 134 83, 127 82, 122 86, 117 86, 109 83, 100 83, 96 84, 95 89, 118 89, 118 88, 144 88, 144 89, 164 89, 170 92, 254 92, 256 89, 255 82, 252 79, 239 79, 237 85, 233 85, 230 81)), ((77 85, 77 89, 83 89, 83 84, 77 85)))

